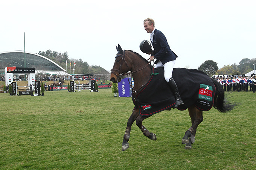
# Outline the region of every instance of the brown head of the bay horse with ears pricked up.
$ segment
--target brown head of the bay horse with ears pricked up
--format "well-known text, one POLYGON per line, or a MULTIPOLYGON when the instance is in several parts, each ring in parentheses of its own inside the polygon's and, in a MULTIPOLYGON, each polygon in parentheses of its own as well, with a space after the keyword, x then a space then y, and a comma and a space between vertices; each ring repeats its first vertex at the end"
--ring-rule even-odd
POLYGON ((122 50, 119 44, 118 47, 116 47, 116 50, 118 52, 116 54, 116 60, 113 69, 111 69, 110 76, 110 81, 113 81, 114 83, 121 81, 123 75, 130 71, 128 63, 125 60, 125 50, 122 50))

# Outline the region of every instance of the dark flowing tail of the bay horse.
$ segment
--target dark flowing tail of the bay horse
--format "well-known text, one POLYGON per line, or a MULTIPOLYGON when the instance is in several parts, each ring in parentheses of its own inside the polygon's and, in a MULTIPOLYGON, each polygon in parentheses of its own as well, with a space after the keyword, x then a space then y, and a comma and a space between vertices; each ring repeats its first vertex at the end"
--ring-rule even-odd
POLYGON ((221 84, 219 84, 218 81, 213 80, 212 78, 211 80, 216 87, 213 107, 220 112, 227 112, 233 110, 235 106, 238 105, 238 103, 227 101, 224 89, 221 84))

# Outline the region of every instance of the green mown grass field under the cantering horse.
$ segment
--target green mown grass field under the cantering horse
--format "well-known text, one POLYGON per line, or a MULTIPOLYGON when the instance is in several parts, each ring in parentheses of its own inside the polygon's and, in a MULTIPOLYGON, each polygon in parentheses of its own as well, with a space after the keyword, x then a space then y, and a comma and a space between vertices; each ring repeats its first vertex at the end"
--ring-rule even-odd
POLYGON ((191 150, 181 144, 190 127, 187 111, 163 111, 134 125, 122 152, 131 98, 111 89, 45 92, 44 96, 0 93, 0 169, 256 169, 256 93, 233 92, 241 105, 229 113, 203 113, 191 150))

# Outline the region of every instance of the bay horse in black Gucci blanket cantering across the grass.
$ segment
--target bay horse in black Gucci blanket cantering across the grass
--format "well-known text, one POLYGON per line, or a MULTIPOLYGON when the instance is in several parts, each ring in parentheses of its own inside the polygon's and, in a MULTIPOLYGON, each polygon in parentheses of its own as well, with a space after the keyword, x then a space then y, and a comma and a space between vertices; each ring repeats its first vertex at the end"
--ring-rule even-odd
MULTIPOLYGON (((138 94, 142 92, 144 88, 146 88, 145 86, 148 86, 147 83, 151 81, 152 70, 154 68, 152 65, 149 64, 148 60, 144 59, 138 53, 133 52, 131 50, 128 50, 128 51, 122 50, 119 44, 118 44, 118 47, 116 47, 116 49, 118 53, 116 55, 113 69, 111 69, 110 80, 113 83, 117 83, 117 82, 120 82, 120 80, 124 75, 131 74, 134 80, 134 86, 132 87, 132 97, 133 97, 134 105, 136 105, 133 109, 131 116, 128 119, 125 134, 123 136, 122 151, 124 151, 129 147, 128 141, 130 139, 131 126, 133 125, 134 121, 136 121, 136 125, 143 132, 143 135, 145 135, 151 140, 157 140, 156 135, 152 132, 149 132, 148 129, 146 129, 145 126, 142 125, 143 120, 152 116, 152 114, 142 115, 141 108, 139 107, 139 105, 137 105, 137 102, 136 102, 136 96, 138 96, 138 94)), ((163 110, 167 110, 167 108, 168 109, 177 108, 178 110, 188 109, 192 126, 190 126, 190 128, 185 132, 185 135, 182 138, 181 143, 186 144, 185 149, 191 149, 192 144, 195 142, 195 134, 197 131, 197 127, 203 121, 203 111, 210 110, 210 108, 212 108, 213 106, 220 112, 227 112, 234 109, 236 103, 227 101, 226 96, 224 94, 224 90, 221 87, 221 85, 216 80, 209 78, 208 75, 205 74, 204 72, 201 72, 199 70, 194 70, 194 69, 174 68, 172 77, 174 78, 177 84, 178 90, 180 91, 181 99, 183 100, 185 106, 183 105, 179 105, 178 107, 177 105, 175 106, 175 98, 174 98, 173 100, 174 103, 170 104, 169 107, 166 107, 163 110), (186 74, 190 74, 190 75, 186 75, 186 74, 183 75, 183 72, 186 72, 186 74), (199 75, 198 77, 199 80, 195 80, 195 78, 193 77, 194 74, 199 75), (200 104, 198 105, 199 103, 198 92, 200 90, 200 83, 198 87, 197 86, 198 83, 190 83, 190 81, 191 82, 207 81, 211 85, 210 87, 212 87, 212 93, 213 93, 211 94, 212 105, 207 110, 206 109, 204 110, 198 107, 198 106, 201 106, 200 104), (196 84, 196 86, 193 86, 193 84, 196 84)), ((206 89, 205 92, 210 92, 210 91, 207 91, 209 90, 209 86, 207 86, 205 89, 206 89)), ((155 89, 151 89, 151 91, 149 91, 146 94, 146 97, 148 97, 149 99, 154 98, 154 96, 151 95, 151 92, 154 90, 155 89)))

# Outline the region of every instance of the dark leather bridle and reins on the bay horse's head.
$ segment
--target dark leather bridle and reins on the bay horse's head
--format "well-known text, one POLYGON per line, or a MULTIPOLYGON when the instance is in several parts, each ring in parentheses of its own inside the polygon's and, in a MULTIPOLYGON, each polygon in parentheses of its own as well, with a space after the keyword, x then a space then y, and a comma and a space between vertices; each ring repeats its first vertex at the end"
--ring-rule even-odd
MULTIPOLYGON (((149 63, 151 64, 151 61, 152 61, 152 60, 151 60, 150 62, 148 62, 143 68, 140 68, 140 69, 138 69, 138 70, 132 72, 131 69, 129 68, 129 66, 128 66, 126 60, 125 60, 125 50, 123 50, 123 54, 120 54, 120 53, 118 52, 118 53, 116 54, 116 58, 117 58, 117 57, 122 57, 122 61, 121 61, 121 63, 120 63, 119 69, 111 69, 111 72, 112 72, 114 75, 116 75, 116 77, 117 77, 117 82, 118 82, 119 78, 123 78, 123 76, 125 76, 125 75, 133 74, 134 72, 137 72, 137 71, 140 71, 140 70, 146 68, 146 66, 148 66, 149 63), (128 71, 128 72, 126 72, 125 74, 124 74, 123 72, 120 73, 121 68, 122 68, 122 65, 123 65, 123 62, 126 63, 126 66, 127 66, 128 70, 129 70, 130 72, 128 71), (118 75, 117 75, 116 73, 114 73, 113 71, 117 71, 117 72, 118 72, 118 75)), ((150 60, 150 59, 148 59, 148 60, 150 60)), ((154 65, 154 63, 153 63, 153 65, 154 65)))

